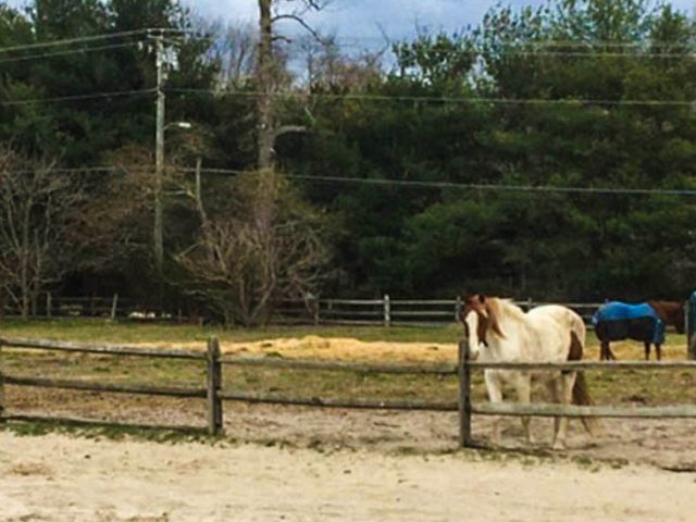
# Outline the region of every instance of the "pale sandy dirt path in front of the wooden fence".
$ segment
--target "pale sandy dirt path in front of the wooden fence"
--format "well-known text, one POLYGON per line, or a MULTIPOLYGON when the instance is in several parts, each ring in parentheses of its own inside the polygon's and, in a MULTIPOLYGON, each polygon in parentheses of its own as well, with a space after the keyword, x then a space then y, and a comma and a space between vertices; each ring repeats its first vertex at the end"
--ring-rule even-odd
POLYGON ((687 521, 695 487, 642 467, 0 432, 2 521, 687 521))

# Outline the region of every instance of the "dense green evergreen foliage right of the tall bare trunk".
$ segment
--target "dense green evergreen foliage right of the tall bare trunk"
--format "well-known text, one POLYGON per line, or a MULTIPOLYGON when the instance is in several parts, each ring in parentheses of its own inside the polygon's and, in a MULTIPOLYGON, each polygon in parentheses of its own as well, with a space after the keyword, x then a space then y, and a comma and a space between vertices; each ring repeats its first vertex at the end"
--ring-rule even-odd
MULTIPOLYGON (((691 100, 693 61, 679 54, 692 49, 693 34, 683 14, 650 1, 494 8, 471 32, 395 46, 394 73, 374 89, 402 100, 344 112, 334 125, 343 147, 334 139, 331 151, 338 162, 322 158, 314 166, 303 157, 298 167, 530 188, 687 188, 695 174, 691 108, 624 102, 691 100), (455 95, 540 102, 486 105, 452 102, 455 95), (569 99, 587 101, 544 103, 569 99)), ((343 187, 333 199, 352 216, 353 274, 373 294, 451 296, 476 287, 545 299, 645 299, 691 291, 693 212, 682 198, 374 192, 343 187)))

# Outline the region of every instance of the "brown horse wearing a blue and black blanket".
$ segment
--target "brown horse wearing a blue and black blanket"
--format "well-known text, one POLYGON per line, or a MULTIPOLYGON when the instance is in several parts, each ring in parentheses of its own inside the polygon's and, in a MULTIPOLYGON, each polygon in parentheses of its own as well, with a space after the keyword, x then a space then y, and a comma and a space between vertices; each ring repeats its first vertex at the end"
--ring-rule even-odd
POLYGON ((645 345, 645 359, 650 358, 650 345, 655 345, 657 360, 664 343, 664 327, 672 325, 684 333, 684 306, 678 301, 647 301, 630 304, 611 301, 601 306, 592 318, 595 333, 601 343, 599 360, 616 360, 609 343, 634 339, 645 345))

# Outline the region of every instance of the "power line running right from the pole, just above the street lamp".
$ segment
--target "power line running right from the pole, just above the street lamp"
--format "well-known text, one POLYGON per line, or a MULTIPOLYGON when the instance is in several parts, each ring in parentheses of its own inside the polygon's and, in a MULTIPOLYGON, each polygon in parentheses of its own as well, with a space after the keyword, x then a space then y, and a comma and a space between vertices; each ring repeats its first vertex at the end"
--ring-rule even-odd
POLYGON ((447 96, 401 96, 401 95, 334 95, 330 92, 262 92, 262 91, 219 91, 214 89, 174 88, 167 89, 173 94, 209 94, 221 97, 259 98, 271 96, 273 98, 319 98, 330 100, 364 100, 364 101, 407 101, 407 102, 431 102, 431 103, 489 103, 507 105, 668 105, 668 107, 693 107, 696 102, 692 100, 601 100, 581 98, 486 98, 486 97, 447 97, 447 96))

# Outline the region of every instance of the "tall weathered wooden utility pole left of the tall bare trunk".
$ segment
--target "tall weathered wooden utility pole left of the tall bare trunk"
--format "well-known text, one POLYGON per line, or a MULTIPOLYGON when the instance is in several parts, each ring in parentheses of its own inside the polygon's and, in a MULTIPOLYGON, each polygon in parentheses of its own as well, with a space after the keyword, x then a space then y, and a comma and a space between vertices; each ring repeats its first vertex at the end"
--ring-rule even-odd
POLYGON ((163 277, 164 233, 162 216, 162 177, 164 171, 164 38, 154 37, 157 51, 157 119, 154 136, 154 265, 160 284, 163 277))

